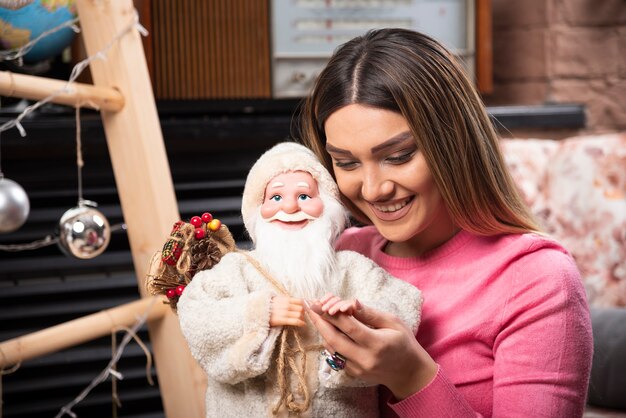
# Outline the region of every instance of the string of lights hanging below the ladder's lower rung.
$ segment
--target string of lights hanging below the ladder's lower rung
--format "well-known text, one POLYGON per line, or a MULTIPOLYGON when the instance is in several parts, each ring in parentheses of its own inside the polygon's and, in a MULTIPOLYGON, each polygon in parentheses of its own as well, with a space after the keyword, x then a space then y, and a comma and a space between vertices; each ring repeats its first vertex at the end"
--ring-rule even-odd
MULTIPOLYGON (((124 334, 124 337, 122 338, 122 341, 120 342, 120 345, 115 350, 115 353, 111 357, 111 360, 109 361, 107 366, 102 370, 102 372, 100 372, 100 374, 98 376, 96 376, 91 381, 91 383, 85 389, 83 389, 83 391, 81 393, 78 394, 78 396, 76 396, 76 398, 74 398, 71 402, 69 402, 66 405, 64 405, 61 408, 61 410, 59 411, 59 413, 55 416, 55 418, 60 418, 60 417, 62 417, 64 415, 69 415, 72 418, 77 418, 77 415, 74 413, 74 411, 72 411, 72 408, 75 407, 78 403, 80 403, 83 399, 85 399, 87 397, 87 395, 96 386, 98 386, 100 383, 104 382, 109 377, 109 375, 114 375, 118 379, 123 377, 121 373, 119 373, 119 372, 117 372, 115 370, 115 365, 119 361, 120 357, 122 357, 122 353, 124 352, 124 349, 126 348, 128 343, 130 342, 130 340, 131 339, 135 339, 135 341, 137 341, 137 339, 139 338, 139 337, 137 337, 137 331, 139 330, 139 328, 141 328, 141 326, 143 324, 145 324, 146 319, 148 318, 148 313, 150 312, 150 309, 152 309, 152 307, 154 306, 154 302, 156 300, 157 300, 157 298, 153 298, 152 299, 152 301, 148 305, 148 308, 146 309, 146 311, 143 313, 143 315, 141 315, 137 319, 137 321, 135 322, 135 324, 132 327, 124 328, 125 331, 126 331, 126 334, 124 334)), ((113 329, 115 329, 115 327, 113 327, 113 329)), ((143 345, 139 344, 139 346, 142 347, 142 349, 144 349, 144 352, 146 353, 146 357, 149 358, 149 360, 148 360, 149 363, 148 364, 150 364, 150 367, 151 367, 151 365, 152 365, 152 357, 149 355, 150 352, 145 347, 145 344, 143 344, 143 345)), ((148 366, 146 366, 146 369, 149 371, 148 366)), ((150 373, 148 373, 148 376, 150 376, 150 373)), ((152 382, 151 377, 148 377, 148 382, 152 382)))

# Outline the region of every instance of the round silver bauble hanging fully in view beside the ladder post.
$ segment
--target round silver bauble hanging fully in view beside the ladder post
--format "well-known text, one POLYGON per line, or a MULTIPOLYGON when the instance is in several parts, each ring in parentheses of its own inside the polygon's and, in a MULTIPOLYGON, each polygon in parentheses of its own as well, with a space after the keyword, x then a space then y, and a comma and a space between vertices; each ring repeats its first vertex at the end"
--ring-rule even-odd
POLYGON ((97 204, 81 200, 59 220, 59 247, 66 255, 88 259, 106 249, 111 240, 109 221, 96 209, 97 204))

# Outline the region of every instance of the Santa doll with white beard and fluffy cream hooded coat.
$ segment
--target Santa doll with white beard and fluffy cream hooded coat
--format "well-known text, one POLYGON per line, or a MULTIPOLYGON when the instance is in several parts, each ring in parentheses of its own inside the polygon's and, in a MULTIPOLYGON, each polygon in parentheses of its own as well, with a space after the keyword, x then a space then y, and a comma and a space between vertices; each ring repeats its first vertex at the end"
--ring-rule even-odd
POLYGON ((177 303, 192 355, 208 375, 207 417, 378 416, 377 387, 348 376, 306 315, 307 301, 358 301, 392 313, 414 332, 422 298, 370 259, 336 251, 347 224, 330 173, 291 142, 251 168, 241 214, 254 245, 229 248, 197 272, 177 303))

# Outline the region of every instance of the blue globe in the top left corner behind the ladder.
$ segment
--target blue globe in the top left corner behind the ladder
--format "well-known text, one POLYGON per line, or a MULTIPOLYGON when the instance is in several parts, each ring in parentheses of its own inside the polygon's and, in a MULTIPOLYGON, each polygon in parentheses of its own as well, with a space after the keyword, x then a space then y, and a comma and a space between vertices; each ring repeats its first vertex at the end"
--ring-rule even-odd
MULTIPOLYGON (((75 0, 0 0, 0 47, 19 48, 75 17, 75 0)), ((66 27, 40 39, 24 56, 24 62, 37 63, 57 56, 74 36, 74 31, 66 27)))

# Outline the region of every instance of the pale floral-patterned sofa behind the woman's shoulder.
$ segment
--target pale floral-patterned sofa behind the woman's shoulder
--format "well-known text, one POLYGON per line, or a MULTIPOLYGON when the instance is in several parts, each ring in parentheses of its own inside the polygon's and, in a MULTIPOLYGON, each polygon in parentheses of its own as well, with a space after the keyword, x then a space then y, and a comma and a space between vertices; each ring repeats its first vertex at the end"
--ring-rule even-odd
POLYGON ((594 335, 585 417, 626 417, 626 133, 500 143, 526 203, 581 272, 594 335))

